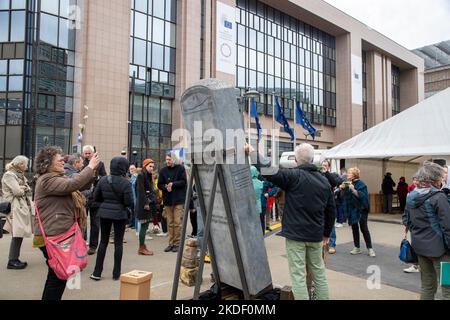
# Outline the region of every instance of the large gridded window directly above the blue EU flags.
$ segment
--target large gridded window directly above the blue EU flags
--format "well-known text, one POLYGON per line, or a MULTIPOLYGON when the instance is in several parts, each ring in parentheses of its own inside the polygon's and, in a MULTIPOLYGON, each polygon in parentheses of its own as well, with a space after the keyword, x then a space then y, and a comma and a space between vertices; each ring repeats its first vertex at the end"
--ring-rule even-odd
POLYGON ((292 119, 301 101, 316 124, 336 125, 335 38, 256 0, 238 0, 236 86, 258 90, 258 111, 272 113, 281 97, 292 119))

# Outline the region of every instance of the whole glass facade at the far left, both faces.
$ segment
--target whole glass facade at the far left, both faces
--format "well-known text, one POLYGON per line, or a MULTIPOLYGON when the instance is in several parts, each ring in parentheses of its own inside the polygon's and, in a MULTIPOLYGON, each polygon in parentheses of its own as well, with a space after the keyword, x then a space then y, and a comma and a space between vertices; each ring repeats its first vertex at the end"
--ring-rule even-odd
POLYGON ((76 0, 0 1, 0 168, 56 144, 70 151, 76 0))

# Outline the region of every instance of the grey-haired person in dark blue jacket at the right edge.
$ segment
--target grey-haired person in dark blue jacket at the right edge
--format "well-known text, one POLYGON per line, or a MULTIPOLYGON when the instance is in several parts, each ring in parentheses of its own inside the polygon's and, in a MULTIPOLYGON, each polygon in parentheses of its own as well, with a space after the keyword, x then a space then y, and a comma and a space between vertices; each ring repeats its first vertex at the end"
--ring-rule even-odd
MULTIPOLYGON (((441 262, 450 262, 450 203, 440 190, 444 176, 441 166, 426 161, 416 176, 418 185, 408 194, 403 221, 419 260, 420 298, 434 300, 441 262)), ((442 287, 442 296, 450 300, 449 287, 442 287)))

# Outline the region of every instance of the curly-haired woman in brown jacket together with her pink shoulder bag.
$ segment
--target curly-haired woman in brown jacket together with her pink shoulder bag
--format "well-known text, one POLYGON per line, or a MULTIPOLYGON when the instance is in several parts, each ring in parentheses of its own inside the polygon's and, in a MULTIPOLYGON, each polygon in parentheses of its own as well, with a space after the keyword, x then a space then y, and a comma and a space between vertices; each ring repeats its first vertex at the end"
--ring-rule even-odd
MULTIPOLYGON (((65 266, 67 262, 64 261, 63 254, 74 248, 70 247, 71 242, 67 239, 61 239, 60 242, 57 242, 57 244, 60 244, 65 241, 66 248, 54 248, 51 241, 58 239, 58 236, 71 232, 72 229, 78 236, 81 232, 80 228, 81 230, 84 229, 86 225, 86 201, 78 190, 92 182, 95 177, 94 170, 99 162, 100 159, 95 154, 89 165, 80 174, 69 178, 64 174, 64 158, 59 147, 45 147, 36 156, 35 207, 37 219, 33 246, 42 251, 49 267, 42 300, 61 300, 62 298, 68 272, 61 269, 61 266, 65 266)), ((79 242, 76 236, 74 236, 73 242, 79 242)), ((80 251, 86 251, 86 243, 82 242, 82 250, 80 251)), ((78 254, 78 252, 71 253, 71 258, 78 254)), ((84 261, 87 262, 86 256, 83 254, 82 257, 75 256, 75 258, 85 259, 84 261)))

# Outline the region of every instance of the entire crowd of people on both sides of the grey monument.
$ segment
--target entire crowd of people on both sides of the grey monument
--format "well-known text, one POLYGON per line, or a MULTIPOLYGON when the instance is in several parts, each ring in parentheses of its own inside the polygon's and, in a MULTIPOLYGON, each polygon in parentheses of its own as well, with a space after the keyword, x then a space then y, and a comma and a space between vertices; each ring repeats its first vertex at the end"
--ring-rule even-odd
MULTIPOLYGON (((354 167, 343 169, 340 175, 332 173, 327 160, 318 168, 313 164, 314 149, 309 144, 296 147, 298 166, 292 169, 272 168, 270 160, 257 155, 250 145, 245 150, 253 164, 250 172, 262 232, 270 229, 273 212, 276 215, 272 218, 282 218, 280 235, 286 238, 295 298, 329 299, 324 254, 336 253, 336 227, 351 226, 354 248, 349 254, 362 253, 361 232, 367 254, 376 256, 368 227, 369 192, 360 178, 360 170, 354 167), (261 170, 263 167, 265 170, 261 170), (282 208, 278 203, 281 197, 282 208)), ((154 255, 146 244, 151 239, 149 231, 168 236, 164 252, 178 252, 188 177, 175 154, 167 154, 165 162, 166 166, 158 172, 152 159, 145 159, 142 167, 137 168, 122 155, 111 160, 108 174, 92 146, 85 146, 82 155, 68 156, 59 147, 47 146, 34 160, 33 198, 25 176, 29 159, 14 158, 2 178, 3 199, 11 204, 5 225, 5 230, 12 234, 7 268, 27 267, 27 262, 20 260, 21 245, 24 238, 34 235, 33 246, 41 250, 48 265, 42 299, 61 299, 66 280, 61 280, 49 265, 45 237, 63 234, 74 221, 78 221, 88 243, 87 254, 97 254, 90 275, 95 281, 102 279, 109 243, 114 244, 112 278, 120 278, 127 227, 136 230, 138 255, 154 255)), ((383 209, 387 213, 392 210, 395 186, 392 175, 387 173, 382 183, 383 209)), ((408 269, 421 273, 421 298, 434 299, 440 263, 450 262, 448 167, 425 162, 411 186, 404 177, 400 178, 397 193, 405 231, 411 233, 412 247, 418 255, 418 264, 408 269)), ((189 200, 192 236, 199 237, 201 248, 203 218, 195 186, 189 200)), ((442 292, 445 299, 450 299, 450 289, 442 288, 442 292)))

